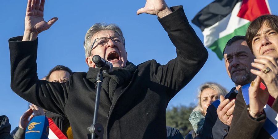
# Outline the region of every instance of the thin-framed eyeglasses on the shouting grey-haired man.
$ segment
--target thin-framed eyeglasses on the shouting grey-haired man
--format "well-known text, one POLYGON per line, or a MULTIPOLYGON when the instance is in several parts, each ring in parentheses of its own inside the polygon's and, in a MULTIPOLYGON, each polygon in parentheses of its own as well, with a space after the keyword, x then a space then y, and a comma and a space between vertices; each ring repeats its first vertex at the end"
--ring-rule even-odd
POLYGON ((95 43, 97 44, 96 47, 98 45, 104 46, 105 44, 108 44, 109 39, 111 39, 116 44, 122 43, 124 45, 124 36, 96 38, 95 41, 93 42, 93 45, 91 46, 90 55, 91 55, 92 49, 94 49, 93 47, 94 47, 95 43))

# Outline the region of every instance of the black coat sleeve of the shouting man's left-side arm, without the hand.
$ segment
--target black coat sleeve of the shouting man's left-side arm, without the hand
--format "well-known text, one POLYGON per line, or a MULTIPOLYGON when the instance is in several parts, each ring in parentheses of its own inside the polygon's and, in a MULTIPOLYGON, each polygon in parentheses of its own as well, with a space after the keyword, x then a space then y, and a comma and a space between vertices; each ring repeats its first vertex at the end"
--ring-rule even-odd
POLYGON ((21 41, 22 36, 9 40, 11 58, 11 89, 20 97, 48 111, 64 114, 70 81, 66 83, 39 80, 37 76, 37 45, 21 41))

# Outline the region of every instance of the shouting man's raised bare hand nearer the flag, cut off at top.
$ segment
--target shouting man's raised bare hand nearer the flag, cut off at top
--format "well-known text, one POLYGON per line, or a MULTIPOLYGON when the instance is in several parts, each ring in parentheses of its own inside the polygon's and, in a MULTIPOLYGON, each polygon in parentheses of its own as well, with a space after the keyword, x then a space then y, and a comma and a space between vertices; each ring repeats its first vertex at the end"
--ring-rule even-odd
POLYGON ((159 18, 162 18, 171 12, 172 11, 164 0, 146 0, 145 7, 140 8, 137 11, 137 15, 146 13, 150 15, 157 15, 159 18))

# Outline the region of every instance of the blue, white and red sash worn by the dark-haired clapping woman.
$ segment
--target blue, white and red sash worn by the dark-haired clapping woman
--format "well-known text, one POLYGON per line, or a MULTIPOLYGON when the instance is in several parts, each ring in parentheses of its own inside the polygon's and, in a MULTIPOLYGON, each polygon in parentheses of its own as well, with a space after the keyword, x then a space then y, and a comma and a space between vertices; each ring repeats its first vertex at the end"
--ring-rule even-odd
MULTIPOLYGON (((244 86, 242 86, 242 95, 243 95, 243 99, 246 103, 246 105, 249 104, 249 87, 250 84, 246 84, 244 86)), ((264 84, 261 82, 260 83, 260 88, 265 90, 266 87, 264 86, 264 84)), ((274 98, 269 95, 269 99, 267 101, 267 104, 263 107, 263 110, 266 113, 266 121, 263 124, 263 128, 267 131, 267 133, 269 133, 273 138, 278 138, 278 115, 277 112, 274 111, 272 109, 272 104, 274 102, 274 98)))

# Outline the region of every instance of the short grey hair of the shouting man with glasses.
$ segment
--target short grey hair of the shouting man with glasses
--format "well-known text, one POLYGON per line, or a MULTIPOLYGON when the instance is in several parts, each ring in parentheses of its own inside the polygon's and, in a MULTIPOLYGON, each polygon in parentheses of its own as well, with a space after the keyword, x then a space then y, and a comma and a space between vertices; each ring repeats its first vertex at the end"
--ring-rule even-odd
POLYGON ((116 33, 118 33, 119 36, 123 36, 123 32, 121 31, 120 27, 118 27, 116 24, 109 24, 106 25, 106 23, 95 23, 90 29, 87 31, 85 35, 85 40, 84 40, 84 49, 85 49, 85 56, 89 57, 90 51, 91 51, 91 46, 93 44, 93 41, 91 40, 92 37, 97 33, 102 30, 112 30, 116 33))

